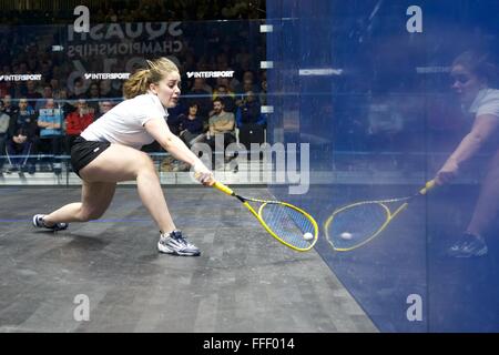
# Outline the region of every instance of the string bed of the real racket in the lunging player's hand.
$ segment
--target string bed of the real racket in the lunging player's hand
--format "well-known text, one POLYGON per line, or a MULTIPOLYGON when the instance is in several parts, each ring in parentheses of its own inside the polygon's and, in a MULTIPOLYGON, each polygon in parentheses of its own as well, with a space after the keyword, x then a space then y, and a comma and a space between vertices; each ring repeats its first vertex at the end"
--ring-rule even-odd
POLYGON ((305 233, 315 236, 315 227, 303 213, 278 203, 265 204, 261 210, 262 220, 284 242, 298 248, 307 248, 314 239, 307 241, 305 233))

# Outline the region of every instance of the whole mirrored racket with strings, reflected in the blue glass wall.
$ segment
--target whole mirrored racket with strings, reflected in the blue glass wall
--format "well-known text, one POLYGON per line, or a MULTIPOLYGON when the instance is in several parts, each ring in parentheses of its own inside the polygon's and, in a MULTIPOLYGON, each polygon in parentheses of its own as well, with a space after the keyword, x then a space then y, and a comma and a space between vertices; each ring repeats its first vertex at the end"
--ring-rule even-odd
POLYGON ((435 181, 430 180, 425 187, 407 197, 361 201, 339 207, 325 223, 326 239, 338 252, 360 247, 379 235, 409 202, 426 195, 434 186, 435 181))

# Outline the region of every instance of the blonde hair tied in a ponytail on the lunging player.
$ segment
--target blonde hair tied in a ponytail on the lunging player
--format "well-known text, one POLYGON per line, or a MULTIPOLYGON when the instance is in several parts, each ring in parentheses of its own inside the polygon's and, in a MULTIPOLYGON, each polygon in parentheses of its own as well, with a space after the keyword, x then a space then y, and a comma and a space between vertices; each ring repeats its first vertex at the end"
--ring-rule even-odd
POLYGON ((123 84, 125 99, 133 99, 136 95, 146 93, 151 83, 157 83, 171 72, 179 72, 175 63, 164 57, 153 61, 147 60, 146 62, 147 69, 136 71, 123 84))

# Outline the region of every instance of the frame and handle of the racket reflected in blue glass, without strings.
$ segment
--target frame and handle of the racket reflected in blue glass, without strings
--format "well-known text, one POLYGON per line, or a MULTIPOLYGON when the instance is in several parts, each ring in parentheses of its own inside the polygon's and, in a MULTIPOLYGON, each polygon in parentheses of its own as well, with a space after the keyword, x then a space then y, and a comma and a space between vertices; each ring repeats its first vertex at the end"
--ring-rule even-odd
MULTIPOLYGON (((379 233, 381 233, 381 232, 387 227, 387 225, 388 225, 388 224, 389 224, 389 223, 390 223, 390 222, 391 222, 391 221, 393 221, 393 220, 394 220, 401 211, 404 211, 404 210, 409 205, 410 200, 413 200, 414 197, 417 197, 417 196, 426 195, 426 193, 427 193, 429 190, 434 189, 434 187, 435 187, 435 181, 434 181, 434 180, 430 180, 430 181, 428 181, 428 182, 425 184, 425 187, 422 187, 421 190, 419 190, 419 192, 418 192, 417 194, 413 195, 413 196, 401 197, 401 199, 393 199, 393 200, 383 200, 383 201, 361 201, 361 202, 356 202, 356 203, 353 203, 353 204, 343 206, 343 207, 336 210, 335 212, 333 212, 333 214, 332 214, 332 215, 326 220, 326 222, 324 223, 324 231, 325 231, 325 234, 326 234, 326 240, 327 240, 327 242, 330 244, 330 246, 332 246, 335 251, 337 251, 337 252, 349 252, 349 251, 356 250, 356 248, 358 248, 358 247, 360 247, 360 246, 363 246, 363 245, 369 243, 373 239, 375 239, 376 236, 378 236, 379 233), (405 201, 405 202, 404 202, 397 210, 395 210, 394 213, 391 213, 390 209, 389 209, 385 203, 388 203, 388 202, 397 202, 397 201, 405 201), (349 246, 349 247, 337 247, 337 246, 335 246, 335 244, 333 243, 333 241, 332 241, 332 239, 330 239, 330 236, 329 236, 329 232, 328 232, 329 225, 333 223, 335 216, 336 216, 338 213, 340 213, 340 212, 343 212, 343 211, 345 211, 345 210, 353 209, 353 207, 356 207, 356 206, 359 206, 359 205, 364 205, 364 204, 378 204, 378 205, 380 205, 380 206, 384 209, 385 213, 386 213, 386 221, 385 221, 385 223, 381 224, 381 226, 376 231, 376 233, 374 233, 371 236, 369 236, 367 240, 363 241, 361 243, 358 243, 358 244, 353 245, 353 246, 349 246)), ((359 222, 359 223, 361 223, 361 222, 359 222)))

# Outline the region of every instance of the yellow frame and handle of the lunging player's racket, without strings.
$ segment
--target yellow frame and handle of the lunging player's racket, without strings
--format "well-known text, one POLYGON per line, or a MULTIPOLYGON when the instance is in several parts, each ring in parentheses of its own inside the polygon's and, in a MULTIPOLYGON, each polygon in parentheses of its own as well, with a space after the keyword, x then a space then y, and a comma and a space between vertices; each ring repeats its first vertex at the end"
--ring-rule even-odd
POLYGON ((298 209, 295 205, 292 205, 289 203, 286 202, 281 202, 281 201, 268 201, 268 200, 257 200, 257 199, 249 199, 249 197, 244 197, 244 196, 240 196, 237 195, 231 187, 224 185, 221 182, 215 182, 213 185, 213 187, 217 189, 218 191, 222 191, 223 193, 236 197, 237 200, 240 200, 243 205, 249 210, 249 212, 256 217, 256 220, 258 220, 258 222, 263 225, 263 227, 268 232, 268 234, 271 234, 273 237, 275 237, 277 241, 279 241, 282 244, 286 245, 287 247, 291 247, 292 250, 295 250, 297 252, 307 252, 309 250, 312 250, 315 245, 315 243, 317 243, 318 240, 318 225, 317 222, 314 220, 314 217, 308 214, 307 212, 303 211, 302 209, 298 209), (258 209, 258 212, 255 211, 255 209, 253 209, 253 206, 248 203, 248 201, 253 201, 253 202, 259 202, 262 203, 262 205, 258 209), (314 239, 310 242, 310 244, 307 247, 297 247, 293 244, 287 243, 286 241, 284 241, 283 239, 281 239, 273 230, 271 230, 271 227, 265 223, 265 221, 262 217, 262 213, 263 213, 263 209, 265 207, 265 205, 267 204, 281 204, 284 206, 287 206, 289 209, 293 209, 299 213, 302 213, 314 226, 314 239))

